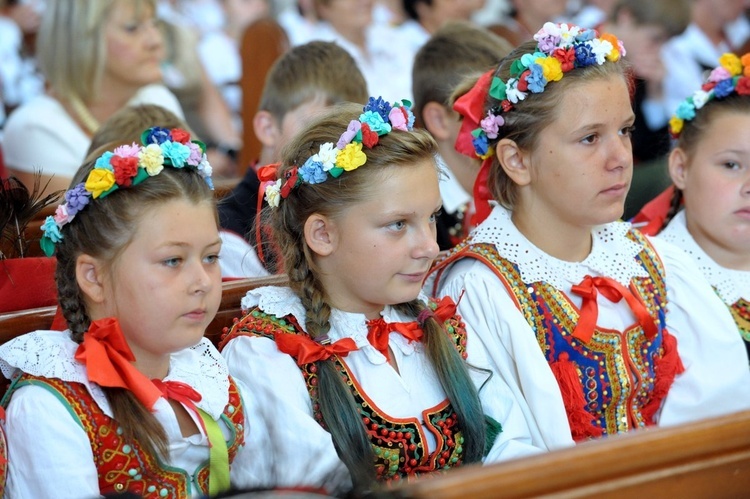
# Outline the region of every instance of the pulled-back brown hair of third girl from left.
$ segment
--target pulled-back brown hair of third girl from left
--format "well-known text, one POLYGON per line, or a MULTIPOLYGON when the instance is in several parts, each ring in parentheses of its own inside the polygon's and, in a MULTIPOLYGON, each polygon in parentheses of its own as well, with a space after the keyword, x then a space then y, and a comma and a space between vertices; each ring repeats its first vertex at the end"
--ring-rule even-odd
MULTIPOLYGON (((508 81, 511 76, 511 65, 525 54, 533 54, 537 51, 537 42, 529 41, 517 47, 508 54, 501 62, 496 71, 503 81, 508 81)), ((582 82, 605 79, 612 75, 622 77, 632 88, 632 75, 630 66, 620 59, 618 62, 605 62, 604 64, 592 64, 583 68, 575 68, 565 73, 560 81, 550 82, 541 93, 530 93, 526 99, 513 104, 513 109, 502 114, 505 124, 499 128, 498 137, 490 140, 490 148, 494 148, 500 139, 513 140, 520 149, 532 150, 537 143, 539 133, 557 118, 560 106, 567 94, 568 88, 582 82)), ((632 95, 632 92, 631 92, 632 95)), ((500 101, 487 95, 485 111, 501 107, 500 101)), ((505 174, 501 168, 497 156, 492 159, 490 168, 489 187, 495 199, 505 208, 512 209, 516 202, 515 183, 505 174)))

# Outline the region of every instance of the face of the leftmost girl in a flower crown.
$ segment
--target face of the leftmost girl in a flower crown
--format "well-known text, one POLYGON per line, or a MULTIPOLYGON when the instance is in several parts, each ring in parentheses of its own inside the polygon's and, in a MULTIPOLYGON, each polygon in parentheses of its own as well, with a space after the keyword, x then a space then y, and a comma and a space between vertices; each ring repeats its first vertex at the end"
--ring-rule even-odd
MULTIPOLYGON (((117 317, 144 370, 197 344, 221 301, 213 208, 173 200, 149 210, 105 281, 104 317, 117 317)), ((101 317, 98 317, 101 318, 101 317)))

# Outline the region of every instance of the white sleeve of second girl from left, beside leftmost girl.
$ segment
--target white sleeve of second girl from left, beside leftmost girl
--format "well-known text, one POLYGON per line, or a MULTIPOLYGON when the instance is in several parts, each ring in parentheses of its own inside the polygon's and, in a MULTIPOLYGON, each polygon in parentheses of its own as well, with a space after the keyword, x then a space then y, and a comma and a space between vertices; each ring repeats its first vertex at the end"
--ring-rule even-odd
POLYGON ((222 350, 238 381, 249 431, 233 463, 241 486, 319 487, 348 472, 331 435, 313 419, 302 373, 291 356, 268 338, 240 336, 222 350))

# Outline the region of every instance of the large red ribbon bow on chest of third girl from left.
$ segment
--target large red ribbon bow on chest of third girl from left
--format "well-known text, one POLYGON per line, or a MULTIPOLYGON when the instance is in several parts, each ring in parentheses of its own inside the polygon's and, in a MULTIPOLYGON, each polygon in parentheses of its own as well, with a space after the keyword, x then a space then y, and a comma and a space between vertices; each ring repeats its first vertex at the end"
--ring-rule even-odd
POLYGON ((609 277, 591 277, 586 276, 580 284, 573 286, 573 293, 583 297, 581 304, 581 313, 578 317, 578 324, 573 330, 573 336, 588 343, 594 334, 596 321, 599 316, 599 306, 596 303, 597 290, 612 303, 617 303, 625 298, 630 310, 635 314, 638 323, 643 328, 648 338, 653 338, 658 332, 656 322, 654 322, 648 309, 628 288, 609 277))

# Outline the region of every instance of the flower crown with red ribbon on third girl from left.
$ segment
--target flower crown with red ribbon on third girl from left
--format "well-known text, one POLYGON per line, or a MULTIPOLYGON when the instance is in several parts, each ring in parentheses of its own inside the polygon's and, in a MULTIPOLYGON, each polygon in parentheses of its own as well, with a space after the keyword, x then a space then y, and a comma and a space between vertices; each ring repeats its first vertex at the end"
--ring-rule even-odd
MULTIPOLYGON (((503 81, 493 70, 470 91, 456 101, 454 108, 471 126, 471 141, 466 134, 465 144, 457 143, 459 152, 481 159, 492 156, 489 141, 496 139, 501 126, 505 124, 502 114, 524 100, 529 92, 540 94, 547 84, 559 81, 563 75, 575 68, 602 65, 606 61, 616 62, 625 55, 625 47, 614 35, 601 37, 593 29, 585 29, 572 24, 545 23, 535 35, 536 52, 524 54, 510 66, 510 78, 503 81), (484 112, 486 95, 500 101, 497 106, 484 112), (481 106, 481 110, 479 110, 481 106), (471 112, 472 108, 476 108, 471 112), (472 114, 473 119, 472 119, 472 114)), ((462 127, 462 132, 464 128, 462 127)))

